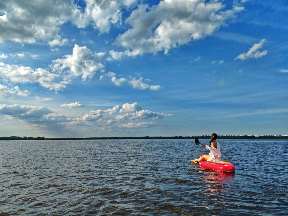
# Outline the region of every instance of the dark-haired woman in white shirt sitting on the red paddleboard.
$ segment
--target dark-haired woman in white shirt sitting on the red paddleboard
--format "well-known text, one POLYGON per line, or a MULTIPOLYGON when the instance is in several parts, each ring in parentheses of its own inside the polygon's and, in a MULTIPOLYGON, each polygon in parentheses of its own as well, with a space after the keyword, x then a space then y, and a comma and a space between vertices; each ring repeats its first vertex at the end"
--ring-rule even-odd
POLYGON ((191 160, 192 163, 198 163, 202 160, 207 160, 207 161, 215 161, 215 162, 221 162, 221 151, 220 151, 220 144, 216 142, 217 139, 217 134, 213 133, 211 135, 211 141, 210 141, 210 145, 203 145, 206 149, 210 150, 209 155, 204 154, 202 155, 200 158, 195 159, 195 160, 191 160))

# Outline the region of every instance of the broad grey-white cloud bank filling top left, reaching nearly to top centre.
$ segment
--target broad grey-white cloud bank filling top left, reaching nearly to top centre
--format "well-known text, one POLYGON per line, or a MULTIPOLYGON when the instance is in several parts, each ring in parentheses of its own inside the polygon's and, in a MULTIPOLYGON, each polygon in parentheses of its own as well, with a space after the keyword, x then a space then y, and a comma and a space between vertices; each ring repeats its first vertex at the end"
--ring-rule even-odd
POLYGON ((81 8, 77 1, 37 0, 2 1, 0 7, 0 42, 47 42, 51 47, 67 44, 60 34, 61 26, 69 21, 78 28, 92 25, 99 33, 109 32, 113 24, 121 24, 122 8, 130 7, 136 0, 84 0, 81 8))

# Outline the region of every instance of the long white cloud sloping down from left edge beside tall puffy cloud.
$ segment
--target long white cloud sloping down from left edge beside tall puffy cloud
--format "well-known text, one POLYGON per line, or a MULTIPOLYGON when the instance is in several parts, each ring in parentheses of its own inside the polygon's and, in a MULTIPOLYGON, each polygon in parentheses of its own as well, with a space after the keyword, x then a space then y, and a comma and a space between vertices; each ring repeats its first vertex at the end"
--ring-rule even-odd
POLYGON ((0 76, 10 79, 14 83, 39 83, 41 86, 49 88, 49 90, 57 91, 66 87, 65 85, 53 82, 59 75, 50 73, 42 68, 34 70, 31 67, 8 65, 0 62, 0 76))

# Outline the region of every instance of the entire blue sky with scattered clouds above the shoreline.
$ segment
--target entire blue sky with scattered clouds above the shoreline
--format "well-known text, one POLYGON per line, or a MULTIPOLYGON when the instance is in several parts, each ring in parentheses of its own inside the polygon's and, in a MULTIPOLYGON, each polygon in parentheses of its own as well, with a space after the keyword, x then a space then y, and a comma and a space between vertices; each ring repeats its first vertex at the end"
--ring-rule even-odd
POLYGON ((288 134, 287 1, 0 3, 0 136, 288 134))

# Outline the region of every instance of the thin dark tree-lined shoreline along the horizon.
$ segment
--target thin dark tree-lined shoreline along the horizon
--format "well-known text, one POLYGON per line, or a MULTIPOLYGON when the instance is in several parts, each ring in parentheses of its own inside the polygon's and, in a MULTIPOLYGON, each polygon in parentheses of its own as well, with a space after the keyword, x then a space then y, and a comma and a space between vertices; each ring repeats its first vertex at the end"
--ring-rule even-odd
MULTIPOLYGON (((187 137, 187 136, 175 136, 175 137, 84 137, 84 138, 78 138, 78 137, 66 137, 66 138, 56 138, 56 137, 0 137, 0 140, 113 140, 113 139, 210 139, 210 136, 192 136, 192 137, 187 137)), ((288 136, 281 136, 281 137, 275 137, 275 136, 223 136, 223 137, 218 137, 218 140, 221 139, 252 139, 252 140, 257 140, 257 139, 288 139, 288 136)))

